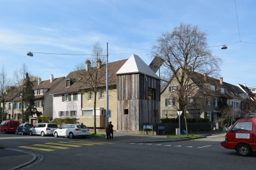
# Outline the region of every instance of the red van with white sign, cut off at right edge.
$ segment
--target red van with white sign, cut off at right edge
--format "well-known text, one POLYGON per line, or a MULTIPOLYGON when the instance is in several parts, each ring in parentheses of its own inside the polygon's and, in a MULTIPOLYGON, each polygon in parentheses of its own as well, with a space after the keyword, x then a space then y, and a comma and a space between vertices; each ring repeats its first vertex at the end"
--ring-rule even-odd
MULTIPOLYGON (((256 114, 255 114, 256 115, 256 114)), ((236 150, 240 156, 251 156, 256 152, 256 117, 238 119, 226 133, 221 146, 236 150)))

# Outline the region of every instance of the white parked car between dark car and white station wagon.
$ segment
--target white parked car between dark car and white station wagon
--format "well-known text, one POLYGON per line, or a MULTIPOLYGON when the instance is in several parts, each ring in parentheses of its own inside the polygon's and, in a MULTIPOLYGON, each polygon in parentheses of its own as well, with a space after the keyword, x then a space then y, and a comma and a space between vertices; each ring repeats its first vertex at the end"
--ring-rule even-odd
POLYGON ((30 136, 32 135, 53 135, 53 131, 58 129, 58 125, 55 123, 38 123, 30 129, 30 136))

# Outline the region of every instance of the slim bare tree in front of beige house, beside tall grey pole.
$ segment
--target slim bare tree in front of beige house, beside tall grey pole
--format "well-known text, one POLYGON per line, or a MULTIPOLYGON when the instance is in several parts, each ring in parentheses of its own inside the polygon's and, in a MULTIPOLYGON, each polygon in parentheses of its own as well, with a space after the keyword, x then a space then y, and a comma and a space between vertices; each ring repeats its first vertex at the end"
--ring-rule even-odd
POLYGON ((94 112, 94 133, 96 133, 96 98, 99 91, 105 91, 106 85, 106 56, 103 54, 103 49, 99 41, 93 44, 91 57, 87 58, 86 63, 76 66, 76 77, 80 79, 82 92, 93 93, 93 112, 94 112))

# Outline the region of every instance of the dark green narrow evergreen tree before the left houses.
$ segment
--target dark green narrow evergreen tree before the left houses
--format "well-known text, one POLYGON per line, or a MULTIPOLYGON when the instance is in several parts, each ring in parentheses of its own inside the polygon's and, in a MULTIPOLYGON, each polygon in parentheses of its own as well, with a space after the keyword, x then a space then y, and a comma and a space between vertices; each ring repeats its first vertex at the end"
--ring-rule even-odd
POLYGON ((30 116, 35 114, 35 94, 33 88, 33 83, 30 81, 30 77, 28 76, 28 72, 26 73, 25 83, 24 83, 24 94, 23 101, 26 107, 26 111, 24 112, 24 121, 28 121, 30 116))

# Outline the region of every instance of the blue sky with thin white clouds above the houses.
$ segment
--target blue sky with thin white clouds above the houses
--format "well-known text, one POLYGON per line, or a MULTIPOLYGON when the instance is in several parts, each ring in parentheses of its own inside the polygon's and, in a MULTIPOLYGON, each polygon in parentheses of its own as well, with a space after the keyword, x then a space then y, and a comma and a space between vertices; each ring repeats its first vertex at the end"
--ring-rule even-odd
POLYGON ((97 41, 105 54, 108 43, 109 62, 137 54, 150 64, 157 37, 183 22, 207 32, 224 82, 256 87, 255 7, 255 0, 1 0, 0 64, 10 78, 22 64, 42 80, 65 77, 97 41))

